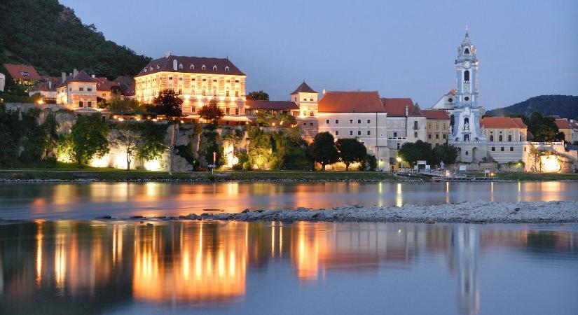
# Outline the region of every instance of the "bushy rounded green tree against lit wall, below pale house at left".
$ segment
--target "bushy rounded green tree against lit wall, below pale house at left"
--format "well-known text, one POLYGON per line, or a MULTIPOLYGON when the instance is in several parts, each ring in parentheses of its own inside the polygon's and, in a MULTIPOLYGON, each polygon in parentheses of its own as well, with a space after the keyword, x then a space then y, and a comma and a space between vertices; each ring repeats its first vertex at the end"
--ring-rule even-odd
POLYGON ((79 116, 71 128, 70 141, 72 160, 86 165, 93 157, 102 157, 109 152, 110 126, 99 113, 79 116))

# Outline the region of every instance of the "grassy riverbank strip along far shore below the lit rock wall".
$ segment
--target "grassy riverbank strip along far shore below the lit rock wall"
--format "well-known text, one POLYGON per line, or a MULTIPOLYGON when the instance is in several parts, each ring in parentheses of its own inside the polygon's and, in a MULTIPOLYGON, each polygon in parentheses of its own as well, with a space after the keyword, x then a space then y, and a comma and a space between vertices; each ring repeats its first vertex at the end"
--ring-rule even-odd
MULTIPOLYGON (((305 172, 305 171, 246 171, 246 172, 146 172, 102 170, 47 170, 47 169, 4 169, 0 170, 0 181, 4 182, 90 182, 90 181, 157 181, 157 182, 222 182, 222 181, 271 181, 271 182, 315 182, 315 181, 408 181, 382 172, 305 172)), ((416 177, 414 180, 420 180, 416 177)))

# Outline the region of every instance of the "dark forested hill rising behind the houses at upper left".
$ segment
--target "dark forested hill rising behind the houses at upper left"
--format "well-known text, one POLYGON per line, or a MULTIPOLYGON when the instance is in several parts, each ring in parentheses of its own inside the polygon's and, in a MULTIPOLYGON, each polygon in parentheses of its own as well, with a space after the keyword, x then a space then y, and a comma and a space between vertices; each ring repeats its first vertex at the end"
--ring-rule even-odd
POLYGON ((108 78, 134 76, 150 59, 107 41, 57 0, 2 0, 0 21, 0 64, 32 64, 43 75, 76 68, 108 78))

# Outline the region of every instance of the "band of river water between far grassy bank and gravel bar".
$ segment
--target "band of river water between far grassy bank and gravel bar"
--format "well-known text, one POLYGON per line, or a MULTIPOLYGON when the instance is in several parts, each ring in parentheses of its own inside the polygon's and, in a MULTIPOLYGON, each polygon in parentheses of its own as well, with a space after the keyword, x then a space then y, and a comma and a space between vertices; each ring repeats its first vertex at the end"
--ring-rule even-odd
POLYGON ((475 200, 578 200, 578 183, 11 183, 0 185, 0 218, 179 216, 203 209, 399 207, 475 200))

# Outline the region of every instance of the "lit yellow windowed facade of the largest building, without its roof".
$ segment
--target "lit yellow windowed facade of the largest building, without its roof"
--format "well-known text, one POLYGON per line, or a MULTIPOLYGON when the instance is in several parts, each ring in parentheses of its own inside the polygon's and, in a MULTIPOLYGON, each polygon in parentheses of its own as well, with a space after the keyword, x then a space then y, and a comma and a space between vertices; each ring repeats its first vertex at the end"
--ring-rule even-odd
POLYGON ((135 78, 135 99, 151 103, 161 90, 174 90, 183 99, 184 115, 196 111, 212 99, 225 116, 245 115, 246 76, 161 71, 135 78))

